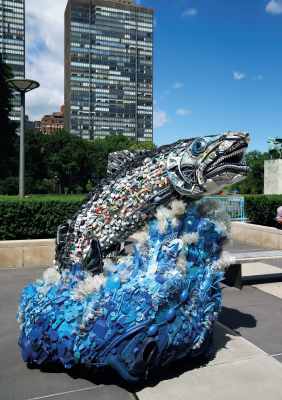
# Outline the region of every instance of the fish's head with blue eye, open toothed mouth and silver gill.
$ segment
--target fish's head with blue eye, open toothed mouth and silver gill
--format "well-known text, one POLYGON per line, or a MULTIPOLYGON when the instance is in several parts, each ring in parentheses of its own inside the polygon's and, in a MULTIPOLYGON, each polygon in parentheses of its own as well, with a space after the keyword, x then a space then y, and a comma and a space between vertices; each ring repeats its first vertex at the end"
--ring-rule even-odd
POLYGON ((166 161, 173 187, 198 199, 245 179, 250 168, 241 162, 249 141, 247 132, 229 131, 181 142, 166 161))

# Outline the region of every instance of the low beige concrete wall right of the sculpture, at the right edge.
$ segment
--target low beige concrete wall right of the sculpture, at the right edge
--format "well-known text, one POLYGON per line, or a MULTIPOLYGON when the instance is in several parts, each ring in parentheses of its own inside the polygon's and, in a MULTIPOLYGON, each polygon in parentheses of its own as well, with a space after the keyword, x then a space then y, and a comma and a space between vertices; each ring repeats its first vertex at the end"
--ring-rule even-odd
POLYGON ((233 240, 282 250, 282 230, 247 222, 232 221, 233 240))

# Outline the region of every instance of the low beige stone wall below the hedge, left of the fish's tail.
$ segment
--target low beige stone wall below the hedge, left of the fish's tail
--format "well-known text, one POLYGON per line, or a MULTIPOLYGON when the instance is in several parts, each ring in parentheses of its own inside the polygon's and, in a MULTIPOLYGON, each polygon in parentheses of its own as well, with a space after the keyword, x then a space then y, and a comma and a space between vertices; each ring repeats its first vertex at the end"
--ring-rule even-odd
POLYGON ((55 239, 0 241, 0 268, 49 267, 55 256, 55 239))

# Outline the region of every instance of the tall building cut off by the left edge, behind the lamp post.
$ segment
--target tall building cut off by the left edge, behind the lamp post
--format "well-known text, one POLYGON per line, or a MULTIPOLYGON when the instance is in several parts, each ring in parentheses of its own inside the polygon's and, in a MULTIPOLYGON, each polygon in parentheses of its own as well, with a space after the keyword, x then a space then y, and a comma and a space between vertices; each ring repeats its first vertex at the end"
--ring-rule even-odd
MULTIPOLYGON (((25 77, 25 0, 0 0, 0 53, 16 77, 25 77)), ((21 97, 15 92, 11 119, 20 121, 21 97)))

